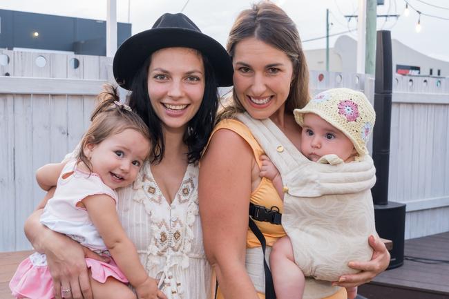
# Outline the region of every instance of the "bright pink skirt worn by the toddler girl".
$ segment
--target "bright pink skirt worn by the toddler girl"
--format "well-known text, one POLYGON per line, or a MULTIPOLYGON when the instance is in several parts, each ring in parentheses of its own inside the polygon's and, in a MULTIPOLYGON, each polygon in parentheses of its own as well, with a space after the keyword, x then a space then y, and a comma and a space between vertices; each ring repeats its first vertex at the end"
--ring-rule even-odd
MULTIPOLYGON (((112 258, 109 263, 86 258, 86 265, 92 271, 92 278, 98 282, 104 283, 110 276, 121 282, 128 282, 112 258)), ((47 267, 46 256, 41 253, 33 253, 23 260, 12 276, 10 289, 15 298, 55 298, 55 289, 50 270, 47 267)))

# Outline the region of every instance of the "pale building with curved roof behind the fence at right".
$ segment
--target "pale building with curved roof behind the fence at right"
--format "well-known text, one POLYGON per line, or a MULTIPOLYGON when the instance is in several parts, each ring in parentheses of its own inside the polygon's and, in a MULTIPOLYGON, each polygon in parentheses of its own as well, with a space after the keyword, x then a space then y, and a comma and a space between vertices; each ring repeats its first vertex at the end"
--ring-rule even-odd
MULTIPOLYGON (((449 76, 449 61, 428 57, 397 39, 392 39, 393 71, 401 75, 449 76)), ((329 49, 329 70, 356 73, 357 41, 347 35, 338 37, 329 49)), ((310 70, 326 69, 326 49, 305 50, 310 70)))

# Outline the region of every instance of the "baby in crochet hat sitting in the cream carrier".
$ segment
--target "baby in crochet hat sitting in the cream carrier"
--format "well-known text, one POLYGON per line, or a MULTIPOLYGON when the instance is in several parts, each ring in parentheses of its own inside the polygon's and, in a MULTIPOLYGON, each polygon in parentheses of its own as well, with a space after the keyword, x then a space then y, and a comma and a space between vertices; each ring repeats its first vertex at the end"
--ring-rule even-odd
MULTIPOLYGON (((347 88, 327 90, 316 95, 303 109, 295 109, 294 115, 296 122, 303 128, 300 151, 307 159, 313 162, 337 165, 343 162, 353 162, 367 155, 366 142, 376 116, 372 105, 363 93, 347 88)), ((260 160, 262 161, 260 177, 269 178, 280 197, 283 198, 283 181, 276 166, 266 155, 262 155, 260 160)), ((367 193, 370 191, 368 190, 367 193)), ((370 197, 370 194, 365 194, 365 199, 367 196, 370 197)), ((312 198, 312 200, 314 199, 312 198)), ((370 202, 366 209, 372 209, 372 206, 369 205, 372 205, 371 199, 367 200, 370 202)), ((335 213, 338 215, 340 211, 335 213)), ((374 219, 366 219, 366 221, 371 221, 374 225, 374 219)), ((334 223, 334 225, 338 224, 334 223)), ((341 233, 345 233, 343 225, 341 229, 341 233)), ((309 231, 309 233, 313 233, 313 231, 309 231)), ((365 240, 364 238, 365 236, 363 236, 363 240, 365 240)), ((288 236, 274 244, 270 255, 270 267, 278 299, 302 298, 303 296, 305 274, 303 271, 305 269, 300 269, 296 265, 299 264, 298 261, 295 263, 296 252, 300 250, 292 248, 292 240, 288 236), (285 273, 288 273, 288 276, 285 273)), ((310 249, 310 251, 313 250, 310 249)), ((329 252, 328 255, 332 256, 332 253, 329 252)), ((309 260, 307 262, 314 264, 316 261, 309 260)), ((317 273, 318 271, 306 274, 316 277, 317 273)), ((356 292, 356 289, 348 291, 356 292)), ((355 294, 348 295, 350 298, 355 296, 355 294)))

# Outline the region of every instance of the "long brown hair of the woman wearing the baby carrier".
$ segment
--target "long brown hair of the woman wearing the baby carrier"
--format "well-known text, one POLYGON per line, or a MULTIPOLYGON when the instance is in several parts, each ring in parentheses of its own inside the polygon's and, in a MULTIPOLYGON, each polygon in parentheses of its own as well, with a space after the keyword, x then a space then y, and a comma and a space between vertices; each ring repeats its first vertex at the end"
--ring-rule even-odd
MULTIPOLYGON (((295 108, 303 108, 309 102, 309 70, 295 23, 276 4, 261 1, 252 8, 243 10, 233 23, 227 40, 227 51, 233 57, 236 45, 243 39, 255 37, 260 41, 285 52, 293 65, 290 92, 285 102, 285 110, 293 113, 295 108)), ((233 104, 222 110, 218 117, 225 119, 234 113, 245 111, 233 92, 233 104)))

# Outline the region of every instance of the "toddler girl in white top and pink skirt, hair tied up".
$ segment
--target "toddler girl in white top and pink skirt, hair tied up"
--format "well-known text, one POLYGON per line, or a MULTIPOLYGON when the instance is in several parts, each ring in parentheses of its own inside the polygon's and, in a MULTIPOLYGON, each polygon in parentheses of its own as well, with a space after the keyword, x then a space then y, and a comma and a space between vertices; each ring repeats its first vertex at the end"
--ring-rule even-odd
MULTIPOLYGON (((166 298, 140 264, 117 216, 115 189, 132 184, 148 157, 148 127, 131 108, 118 102, 117 90, 111 86, 99 95, 91 120, 76 159, 47 164, 37 171, 42 189, 56 185, 40 221, 84 247, 112 255, 108 263, 86 258, 95 299, 136 298, 128 282, 140 299, 166 298)), ((62 297, 71 298, 70 287, 61 287, 62 297)), ((55 298, 46 255, 33 253, 23 260, 10 289, 16 298, 55 298)))

